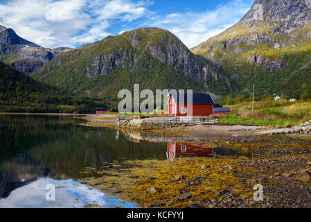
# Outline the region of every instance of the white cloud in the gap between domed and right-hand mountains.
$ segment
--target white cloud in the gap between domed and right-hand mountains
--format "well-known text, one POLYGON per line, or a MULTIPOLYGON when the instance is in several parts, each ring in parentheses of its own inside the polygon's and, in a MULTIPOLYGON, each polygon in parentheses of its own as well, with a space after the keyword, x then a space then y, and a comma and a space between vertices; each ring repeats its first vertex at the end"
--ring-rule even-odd
POLYGON ((191 48, 236 24, 251 8, 252 3, 253 0, 232 0, 206 12, 175 12, 154 17, 143 26, 164 28, 191 48))

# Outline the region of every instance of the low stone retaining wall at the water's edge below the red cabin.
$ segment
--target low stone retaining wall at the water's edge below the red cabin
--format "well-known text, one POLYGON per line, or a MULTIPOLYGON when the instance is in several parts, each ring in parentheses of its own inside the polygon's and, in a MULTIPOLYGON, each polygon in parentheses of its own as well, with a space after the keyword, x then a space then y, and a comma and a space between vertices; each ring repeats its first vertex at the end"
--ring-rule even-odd
POLYGON ((203 117, 149 117, 145 119, 119 118, 117 119, 116 126, 125 129, 155 130, 217 122, 217 119, 203 117))

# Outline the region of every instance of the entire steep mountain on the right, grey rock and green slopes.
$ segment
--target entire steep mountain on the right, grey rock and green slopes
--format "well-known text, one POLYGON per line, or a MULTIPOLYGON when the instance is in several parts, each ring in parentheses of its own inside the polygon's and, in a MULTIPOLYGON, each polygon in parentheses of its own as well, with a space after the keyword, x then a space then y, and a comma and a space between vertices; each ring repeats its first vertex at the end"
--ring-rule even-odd
POLYGON ((311 89, 311 1, 256 0, 238 24, 190 49, 236 87, 256 93, 311 89), (262 12, 262 13, 261 13, 262 12))

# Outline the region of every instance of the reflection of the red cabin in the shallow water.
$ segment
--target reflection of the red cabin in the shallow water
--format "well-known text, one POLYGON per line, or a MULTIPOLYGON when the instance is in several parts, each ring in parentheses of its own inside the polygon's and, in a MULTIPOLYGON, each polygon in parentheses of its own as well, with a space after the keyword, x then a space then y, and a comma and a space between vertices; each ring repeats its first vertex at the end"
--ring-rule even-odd
POLYGON ((213 156, 213 148, 202 147, 202 144, 168 142, 166 157, 173 160, 177 156, 213 156))

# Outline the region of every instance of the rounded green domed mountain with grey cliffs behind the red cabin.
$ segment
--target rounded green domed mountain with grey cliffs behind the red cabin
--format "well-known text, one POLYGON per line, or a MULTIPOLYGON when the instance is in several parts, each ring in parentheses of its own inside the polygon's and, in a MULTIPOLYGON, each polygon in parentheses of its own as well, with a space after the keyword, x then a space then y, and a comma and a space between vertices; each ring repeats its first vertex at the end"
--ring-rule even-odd
POLYGON ((120 89, 197 89, 231 87, 202 56, 160 28, 139 28, 108 36, 62 54, 31 74, 36 80, 74 94, 117 98, 120 89))

